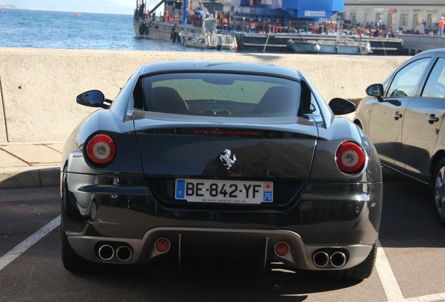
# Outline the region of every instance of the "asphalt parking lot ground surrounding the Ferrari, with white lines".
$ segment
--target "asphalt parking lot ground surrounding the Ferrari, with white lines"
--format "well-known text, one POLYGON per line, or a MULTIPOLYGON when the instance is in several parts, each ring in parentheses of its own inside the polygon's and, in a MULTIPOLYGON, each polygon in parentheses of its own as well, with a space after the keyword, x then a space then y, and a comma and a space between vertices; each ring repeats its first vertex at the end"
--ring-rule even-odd
POLYGON ((339 282, 279 264, 259 276, 236 259, 186 259, 65 271, 59 254, 57 187, 0 190, 0 301, 445 301, 445 228, 428 189, 383 170, 376 269, 339 282))

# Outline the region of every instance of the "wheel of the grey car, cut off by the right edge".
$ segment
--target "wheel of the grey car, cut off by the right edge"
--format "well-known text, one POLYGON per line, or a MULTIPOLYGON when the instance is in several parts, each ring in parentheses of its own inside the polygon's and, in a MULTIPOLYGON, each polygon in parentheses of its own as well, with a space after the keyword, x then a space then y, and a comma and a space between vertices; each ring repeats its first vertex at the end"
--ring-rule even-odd
POLYGON ((439 224, 445 227, 445 159, 439 161, 432 177, 432 199, 436 209, 435 215, 439 224))

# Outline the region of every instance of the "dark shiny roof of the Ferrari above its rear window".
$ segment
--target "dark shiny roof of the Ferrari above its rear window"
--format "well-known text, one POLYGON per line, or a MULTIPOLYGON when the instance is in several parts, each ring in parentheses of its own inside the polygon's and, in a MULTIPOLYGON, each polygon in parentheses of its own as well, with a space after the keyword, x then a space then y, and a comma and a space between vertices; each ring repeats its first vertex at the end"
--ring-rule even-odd
POLYGON ((295 78, 301 80, 302 76, 299 71, 289 69, 283 66, 274 66, 260 63, 245 62, 208 62, 208 61, 170 61, 146 64, 143 66, 143 73, 158 72, 187 72, 187 71, 216 71, 216 72, 234 72, 240 73, 246 71, 248 73, 266 73, 270 75, 278 75, 286 78, 295 78))

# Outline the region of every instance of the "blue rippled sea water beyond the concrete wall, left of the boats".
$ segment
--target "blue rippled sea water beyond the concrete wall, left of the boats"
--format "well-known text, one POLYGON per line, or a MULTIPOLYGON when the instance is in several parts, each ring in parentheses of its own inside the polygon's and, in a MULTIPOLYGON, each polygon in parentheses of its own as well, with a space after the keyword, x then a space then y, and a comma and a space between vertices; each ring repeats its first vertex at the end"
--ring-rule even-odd
POLYGON ((197 51, 181 43, 136 38, 132 15, 1 8, 0 47, 197 51))

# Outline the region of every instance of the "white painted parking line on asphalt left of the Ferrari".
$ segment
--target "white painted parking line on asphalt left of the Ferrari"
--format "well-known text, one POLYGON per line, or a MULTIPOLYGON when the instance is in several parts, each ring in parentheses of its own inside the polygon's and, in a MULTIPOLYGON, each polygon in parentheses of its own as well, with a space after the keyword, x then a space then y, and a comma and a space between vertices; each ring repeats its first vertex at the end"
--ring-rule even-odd
POLYGON ((44 227, 36 231, 36 233, 29 236, 27 239, 23 240, 22 243, 14 247, 12 250, 4 254, 0 258, 0 271, 5 268, 8 264, 14 261, 15 258, 19 257, 26 250, 29 249, 34 243, 37 243, 38 240, 45 237, 50 231, 59 227, 60 224, 60 215, 57 216, 54 220, 46 224, 44 227))

